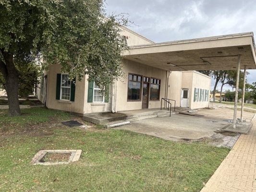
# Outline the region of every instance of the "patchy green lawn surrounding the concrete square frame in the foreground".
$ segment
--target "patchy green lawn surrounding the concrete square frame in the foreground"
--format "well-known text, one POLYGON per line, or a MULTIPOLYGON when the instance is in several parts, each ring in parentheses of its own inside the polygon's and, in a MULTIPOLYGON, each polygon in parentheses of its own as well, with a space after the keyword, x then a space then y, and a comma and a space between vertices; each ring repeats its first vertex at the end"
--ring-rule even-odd
POLYGON ((81 120, 46 108, 0 110, 2 192, 199 192, 229 153, 206 143, 178 143, 121 130, 68 128, 81 120), (82 149, 79 161, 34 166, 41 149, 82 149))

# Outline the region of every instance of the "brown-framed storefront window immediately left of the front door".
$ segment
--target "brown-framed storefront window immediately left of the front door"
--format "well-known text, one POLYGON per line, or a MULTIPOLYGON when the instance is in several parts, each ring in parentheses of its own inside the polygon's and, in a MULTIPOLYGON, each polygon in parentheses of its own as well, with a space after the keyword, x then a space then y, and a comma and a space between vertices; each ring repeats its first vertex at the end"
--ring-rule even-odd
POLYGON ((128 75, 128 97, 130 101, 141 100, 141 82, 142 76, 136 74, 128 75))

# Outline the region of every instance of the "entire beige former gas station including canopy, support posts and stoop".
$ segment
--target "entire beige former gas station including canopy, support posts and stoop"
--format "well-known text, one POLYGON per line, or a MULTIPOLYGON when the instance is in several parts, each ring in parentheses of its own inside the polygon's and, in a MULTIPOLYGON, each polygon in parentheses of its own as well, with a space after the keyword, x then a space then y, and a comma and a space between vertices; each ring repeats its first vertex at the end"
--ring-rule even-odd
POLYGON ((171 115, 178 108, 207 108, 211 78, 197 71, 236 70, 231 128, 250 126, 243 123, 244 99, 241 122, 236 115, 239 72, 256 69, 252 32, 154 43, 128 28, 122 29, 120 35, 129 50, 122 53, 123 76, 110 84, 109 93, 102 95, 94 82, 87 81, 88 75, 74 84, 56 64, 44 73, 38 99, 48 108, 69 111, 96 124, 113 121, 106 127, 114 127, 130 123, 134 117, 142 120, 171 115))

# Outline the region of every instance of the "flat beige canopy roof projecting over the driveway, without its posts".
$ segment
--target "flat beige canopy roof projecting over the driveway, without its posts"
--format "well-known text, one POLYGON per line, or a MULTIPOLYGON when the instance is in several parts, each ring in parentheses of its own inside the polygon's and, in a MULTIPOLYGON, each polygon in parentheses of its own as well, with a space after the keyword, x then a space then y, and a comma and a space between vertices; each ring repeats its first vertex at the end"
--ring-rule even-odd
POLYGON ((130 47, 124 59, 166 71, 256 69, 253 32, 130 47))

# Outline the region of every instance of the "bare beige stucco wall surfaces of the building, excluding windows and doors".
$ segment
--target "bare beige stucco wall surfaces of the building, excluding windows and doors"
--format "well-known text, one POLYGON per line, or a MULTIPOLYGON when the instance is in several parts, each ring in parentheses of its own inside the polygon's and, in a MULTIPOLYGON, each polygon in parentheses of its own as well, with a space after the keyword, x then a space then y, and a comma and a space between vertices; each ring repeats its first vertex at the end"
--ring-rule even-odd
MULTIPOLYGON (((152 44, 153 42, 139 34, 122 27, 122 36, 126 36, 128 46, 152 44)), ((69 111, 77 114, 110 112, 111 103, 113 102, 115 111, 135 110, 142 108, 142 101, 127 101, 128 92, 128 74, 134 73, 146 77, 157 78, 161 80, 159 100, 148 102, 148 108, 160 108, 161 98, 168 97, 176 100, 176 106, 181 106, 181 90, 189 89, 189 107, 204 108, 208 106, 208 102, 197 102, 194 99, 194 87, 202 89, 210 89, 210 78, 198 72, 171 72, 168 80, 169 72, 152 66, 144 65, 136 61, 123 60, 123 76, 116 82, 114 93, 112 93, 112 85, 110 85, 109 103, 88 103, 88 76, 81 81, 75 82, 75 99, 74 102, 56 99, 56 81, 57 73, 61 72, 60 65, 50 65, 47 75, 47 94, 41 95, 41 84, 37 88, 37 96, 40 101, 44 101, 46 97, 46 106, 52 109, 69 111), (169 85, 169 86, 168 86, 169 85), (167 88, 169 87, 169 88, 167 88), (117 89, 117 90, 115 90, 117 89), (116 94, 115 94, 116 93, 116 94), (115 94, 116 99, 112 101, 115 94)), ((45 86, 46 87, 46 86, 45 86)), ((142 89, 141 89, 142 92, 142 89)))

